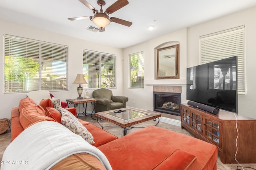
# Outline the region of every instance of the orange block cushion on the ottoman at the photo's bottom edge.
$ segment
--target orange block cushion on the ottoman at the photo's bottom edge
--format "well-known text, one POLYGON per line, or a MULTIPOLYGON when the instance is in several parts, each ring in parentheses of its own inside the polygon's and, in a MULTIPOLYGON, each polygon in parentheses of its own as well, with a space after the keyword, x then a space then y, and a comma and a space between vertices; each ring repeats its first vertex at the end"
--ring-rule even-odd
POLYGON ((196 170, 196 156, 181 149, 176 149, 170 156, 156 165, 152 170, 196 170))

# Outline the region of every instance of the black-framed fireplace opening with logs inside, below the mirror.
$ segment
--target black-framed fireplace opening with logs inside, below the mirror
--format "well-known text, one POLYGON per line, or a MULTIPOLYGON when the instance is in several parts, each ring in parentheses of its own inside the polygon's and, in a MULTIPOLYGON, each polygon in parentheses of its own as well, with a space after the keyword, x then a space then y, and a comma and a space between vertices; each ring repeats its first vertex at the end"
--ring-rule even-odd
POLYGON ((154 111, 180 116, 180 93, 154 92, 154 111))

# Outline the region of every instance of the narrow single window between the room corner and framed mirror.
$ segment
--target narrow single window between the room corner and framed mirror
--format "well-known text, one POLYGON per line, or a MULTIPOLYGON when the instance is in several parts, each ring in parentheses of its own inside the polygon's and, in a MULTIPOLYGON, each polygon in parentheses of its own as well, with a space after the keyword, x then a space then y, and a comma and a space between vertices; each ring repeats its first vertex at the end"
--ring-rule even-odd
POLYGON ((129 55, 130 88, 144 89, 144 52, 129 55))

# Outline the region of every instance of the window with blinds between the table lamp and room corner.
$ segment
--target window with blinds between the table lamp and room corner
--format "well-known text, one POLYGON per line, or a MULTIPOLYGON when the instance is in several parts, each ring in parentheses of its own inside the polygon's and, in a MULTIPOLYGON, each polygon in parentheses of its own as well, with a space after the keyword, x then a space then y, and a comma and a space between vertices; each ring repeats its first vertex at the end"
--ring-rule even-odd
POLYGON ((83 51, 84 88, 116 87, 116 55, 83 51))

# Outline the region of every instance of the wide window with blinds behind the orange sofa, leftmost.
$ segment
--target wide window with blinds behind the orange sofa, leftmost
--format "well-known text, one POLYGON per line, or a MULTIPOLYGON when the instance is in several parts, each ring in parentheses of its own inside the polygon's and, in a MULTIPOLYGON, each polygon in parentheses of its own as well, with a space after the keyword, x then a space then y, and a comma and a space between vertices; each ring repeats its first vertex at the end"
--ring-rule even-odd
POLYGON ((4 35, 4 92, 67 90, 68 47, 4 35))

